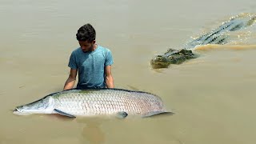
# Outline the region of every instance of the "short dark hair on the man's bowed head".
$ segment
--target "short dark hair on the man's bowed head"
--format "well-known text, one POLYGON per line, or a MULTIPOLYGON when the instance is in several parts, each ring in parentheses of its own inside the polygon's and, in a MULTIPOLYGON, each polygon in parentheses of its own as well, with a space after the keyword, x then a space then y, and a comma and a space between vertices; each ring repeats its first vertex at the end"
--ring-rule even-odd
POLYGON ((86 23, 84 26, 79 28, 78 34, 76 35, 78 41, 93 42, 96 38, 96 31, 90 23, 86 23))

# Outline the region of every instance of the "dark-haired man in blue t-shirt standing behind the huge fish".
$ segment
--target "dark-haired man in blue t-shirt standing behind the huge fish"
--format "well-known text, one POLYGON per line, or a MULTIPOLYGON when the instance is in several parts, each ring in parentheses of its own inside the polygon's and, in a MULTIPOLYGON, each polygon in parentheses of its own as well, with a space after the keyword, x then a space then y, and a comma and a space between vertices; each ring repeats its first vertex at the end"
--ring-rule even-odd
POLYGON ((77 73, 77 88, 114 88, 112 54, 109 49, 96 44, 94 27, 87 23, 79 28, 76 36, 80 47, 70 55, 70 75, 63 90, 73 88, 77 73))

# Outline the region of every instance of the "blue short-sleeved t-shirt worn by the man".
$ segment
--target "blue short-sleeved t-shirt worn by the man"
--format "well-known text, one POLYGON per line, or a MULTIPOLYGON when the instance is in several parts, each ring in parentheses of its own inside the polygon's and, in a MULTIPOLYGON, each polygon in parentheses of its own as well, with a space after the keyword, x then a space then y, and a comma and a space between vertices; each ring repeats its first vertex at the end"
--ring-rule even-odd
POLYGON ((102 46, 96 50, 83 52, 79 47, 70 55, 69 67, 78 70, 78 88, 104 88, 105 66, 113 64, 111 51, 102 46))

